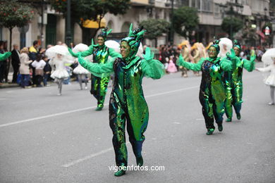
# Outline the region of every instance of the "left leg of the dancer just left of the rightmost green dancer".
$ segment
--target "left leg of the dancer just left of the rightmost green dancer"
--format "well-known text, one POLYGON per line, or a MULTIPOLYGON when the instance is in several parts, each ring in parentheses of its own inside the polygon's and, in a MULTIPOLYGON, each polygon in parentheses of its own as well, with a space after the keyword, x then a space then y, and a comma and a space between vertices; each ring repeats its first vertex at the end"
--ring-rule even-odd
POLYGON ((209 102, 209 96, 200 92, 200 103, 202 104, 202 115, 204 116, 207 134, 213 134, 214 116, 213 116, 213 103, 209 102))

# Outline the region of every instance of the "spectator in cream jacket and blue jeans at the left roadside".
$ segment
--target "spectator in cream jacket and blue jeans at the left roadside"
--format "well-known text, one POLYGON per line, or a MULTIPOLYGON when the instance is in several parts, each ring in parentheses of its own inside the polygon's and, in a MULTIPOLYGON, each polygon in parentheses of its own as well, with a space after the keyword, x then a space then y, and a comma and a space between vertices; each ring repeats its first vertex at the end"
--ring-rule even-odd
POLYGON ((20 68, 19 72, 21 75, 21 87, 23 88, 30 88, 30 66, 29 64, 32 63, 30 61, 30 58, 28 56, 28 49, 27 47, 24 47, 20 51, 20 68))

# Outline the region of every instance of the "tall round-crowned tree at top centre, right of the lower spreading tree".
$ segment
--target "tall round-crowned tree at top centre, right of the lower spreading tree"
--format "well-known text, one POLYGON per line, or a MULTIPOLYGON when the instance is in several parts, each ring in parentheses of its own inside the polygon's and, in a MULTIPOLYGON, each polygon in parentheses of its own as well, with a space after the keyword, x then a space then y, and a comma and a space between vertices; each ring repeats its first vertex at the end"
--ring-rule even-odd
POLYGON ((173 28, 183 37, 187 37, 188 32, 195 30, 199 24, 199 17, 197 15, 197 9, 188 6, 178 8, 173 13, 173 28))

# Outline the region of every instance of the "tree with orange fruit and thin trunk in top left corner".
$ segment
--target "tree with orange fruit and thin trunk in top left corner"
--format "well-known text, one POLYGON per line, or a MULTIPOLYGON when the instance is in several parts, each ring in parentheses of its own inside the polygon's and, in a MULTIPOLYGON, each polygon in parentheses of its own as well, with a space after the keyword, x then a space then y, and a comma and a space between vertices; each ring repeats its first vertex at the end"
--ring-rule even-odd
POLYGON ((13 27, 23 27, 30 23, 35 11, 16 0, 9 0, 0 3, 0 25, 7 27, 10 31, 10 49, 13 27))

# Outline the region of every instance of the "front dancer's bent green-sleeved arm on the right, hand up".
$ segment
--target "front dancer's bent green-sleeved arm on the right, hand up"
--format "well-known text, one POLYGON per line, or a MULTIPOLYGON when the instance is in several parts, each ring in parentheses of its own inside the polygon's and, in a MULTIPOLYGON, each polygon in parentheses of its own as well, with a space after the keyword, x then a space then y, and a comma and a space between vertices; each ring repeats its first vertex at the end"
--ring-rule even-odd
POLYGON ((147 47, 145 49, 145 55, 141 62, 141 68, 145 77, 151 77, 152 79, 159 79, 164 75, 164 65, 157 60, 154 60, 154 53, 147 47))

